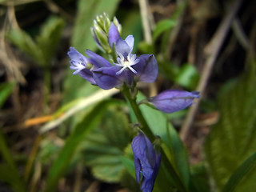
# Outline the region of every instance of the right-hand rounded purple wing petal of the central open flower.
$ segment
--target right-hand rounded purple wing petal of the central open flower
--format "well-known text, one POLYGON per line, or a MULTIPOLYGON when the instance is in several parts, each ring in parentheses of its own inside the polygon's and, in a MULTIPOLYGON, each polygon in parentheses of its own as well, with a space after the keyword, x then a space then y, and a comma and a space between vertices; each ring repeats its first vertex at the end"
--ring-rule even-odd
POLYGON ((158 62, 153 54, 142 54, 138 57, 139 62, 133 66, 138 72, 138 81, 154 82, 158 77, 158 62))

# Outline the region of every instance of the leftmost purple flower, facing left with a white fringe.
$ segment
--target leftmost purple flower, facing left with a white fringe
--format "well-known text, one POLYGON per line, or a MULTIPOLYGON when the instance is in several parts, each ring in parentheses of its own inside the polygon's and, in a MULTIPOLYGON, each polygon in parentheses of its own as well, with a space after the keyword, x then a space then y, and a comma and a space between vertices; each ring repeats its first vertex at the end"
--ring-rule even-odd
POLYGON ((105 58, 102 58, 90 50, 86 50, 86 54, 90 58, 86 58, 84 55, 80 54, 74 47, 70 47, 70 51, 67 54, 71 59, 70 69, 75 70, 73 74, 79 74, 92 84, 97 84, 93 77, 93 70, 103 66, 111 66, 110 62, 106 61, 105 58))

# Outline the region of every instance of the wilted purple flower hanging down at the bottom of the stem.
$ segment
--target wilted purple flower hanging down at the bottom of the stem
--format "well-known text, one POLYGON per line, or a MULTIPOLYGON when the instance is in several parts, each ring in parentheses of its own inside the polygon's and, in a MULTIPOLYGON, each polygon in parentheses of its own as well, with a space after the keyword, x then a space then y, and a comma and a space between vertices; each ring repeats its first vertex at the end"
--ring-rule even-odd
POLYGON ((141 190, 151 192, 160 168, 161 154, 154 150, 154 146, 142 132, 134 138, 131 148, 134 151, 136 180, 140 182, 142 178, 141 190))

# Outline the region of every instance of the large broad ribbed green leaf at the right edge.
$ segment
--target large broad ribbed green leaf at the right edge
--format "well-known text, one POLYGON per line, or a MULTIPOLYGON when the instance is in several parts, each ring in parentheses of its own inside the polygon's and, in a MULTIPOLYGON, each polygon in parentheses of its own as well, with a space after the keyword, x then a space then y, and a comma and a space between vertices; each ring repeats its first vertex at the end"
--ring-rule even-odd
MULTIPOLYGON (((218 97, 220 120, 205 143, 206 160, 219 190, 230 175, 256 150, 256 76, 246 71, 238 81, 226 86, 218 97)), ((256 172, 239 185, 238 191, 255 189, 256 172)))

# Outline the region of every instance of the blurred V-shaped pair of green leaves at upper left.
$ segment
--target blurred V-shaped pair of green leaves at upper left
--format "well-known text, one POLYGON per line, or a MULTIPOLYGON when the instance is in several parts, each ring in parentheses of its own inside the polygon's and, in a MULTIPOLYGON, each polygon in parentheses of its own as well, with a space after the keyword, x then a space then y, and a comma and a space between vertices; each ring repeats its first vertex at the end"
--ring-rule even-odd
POLYGON ((10 30, 7 37, 20 50, 34 58, 36 63, 49 69, 50 62, 56 56, 64 24, 62 18, 50 17, 42 26, 40 34, 35 40, 26 31, 18 29, 10 30))

